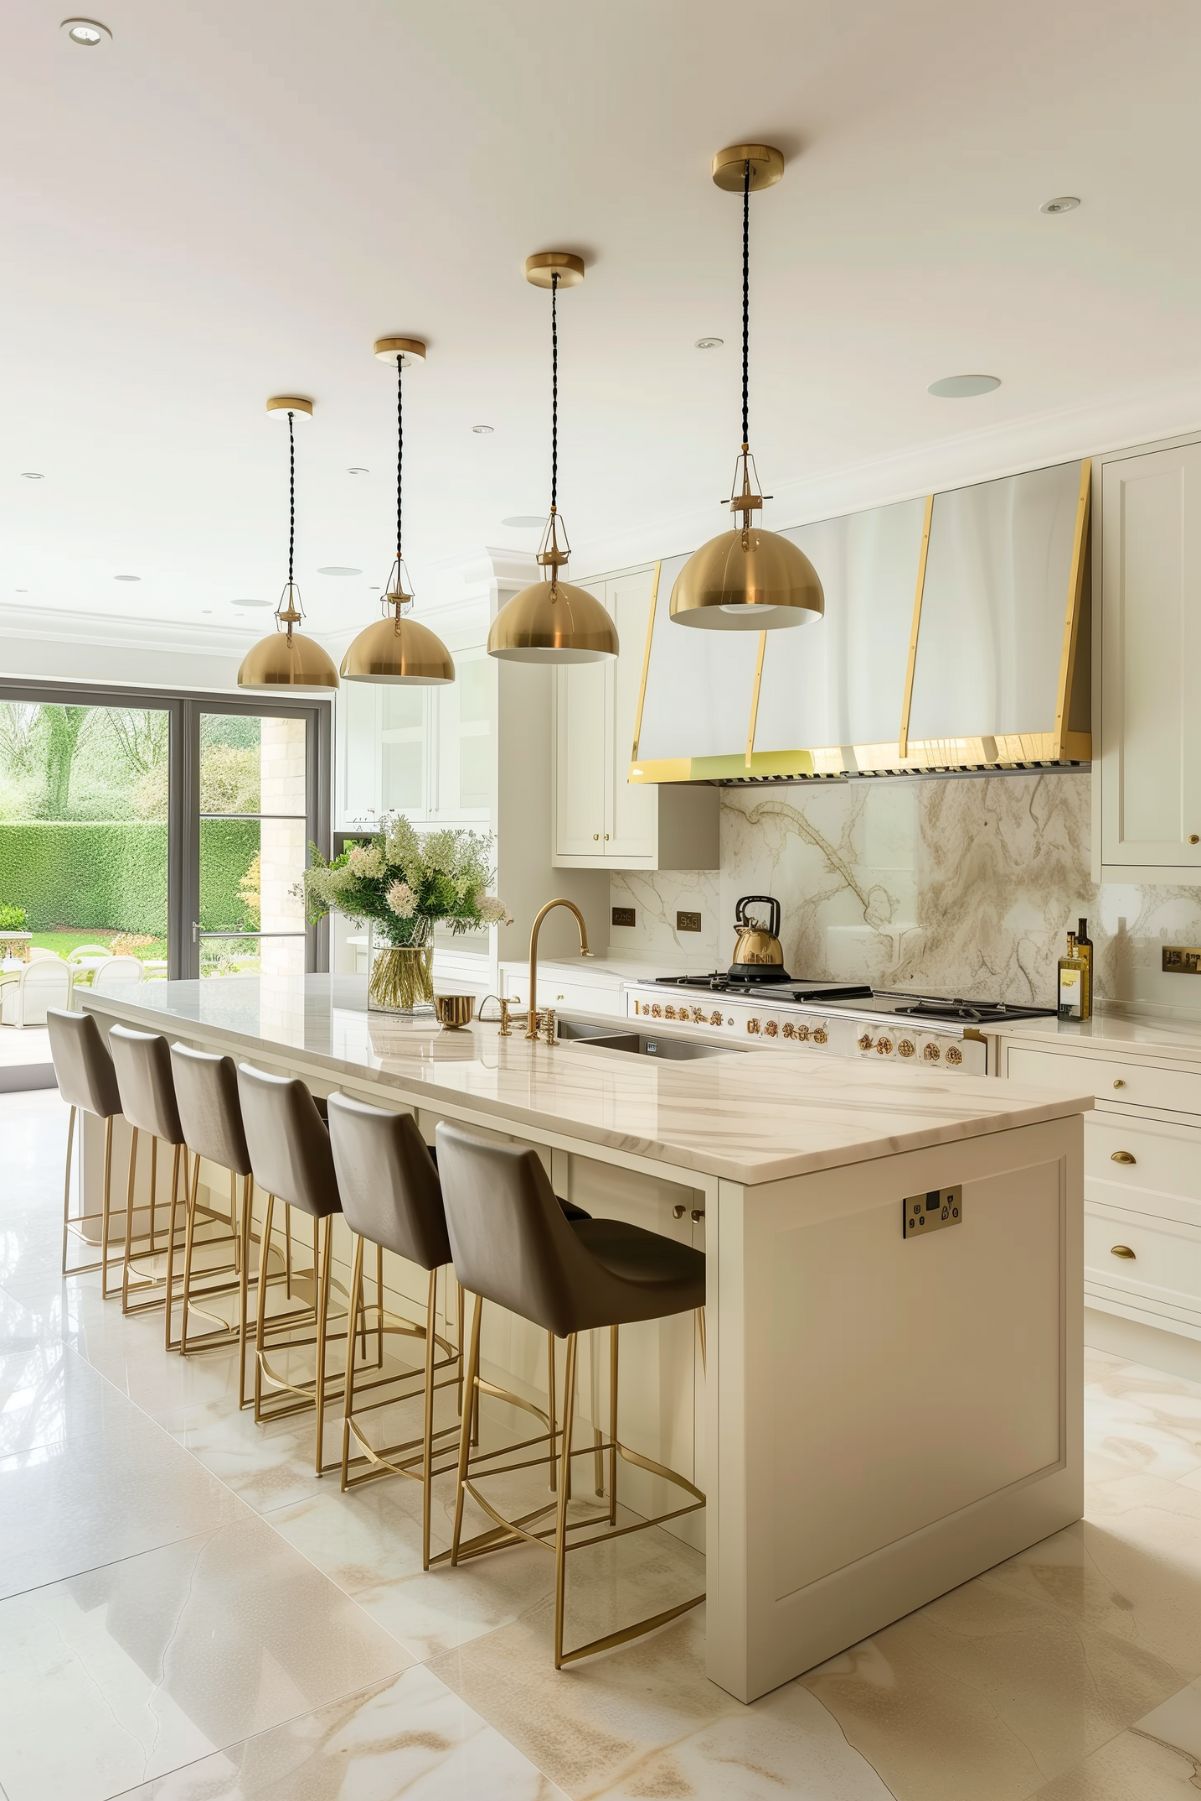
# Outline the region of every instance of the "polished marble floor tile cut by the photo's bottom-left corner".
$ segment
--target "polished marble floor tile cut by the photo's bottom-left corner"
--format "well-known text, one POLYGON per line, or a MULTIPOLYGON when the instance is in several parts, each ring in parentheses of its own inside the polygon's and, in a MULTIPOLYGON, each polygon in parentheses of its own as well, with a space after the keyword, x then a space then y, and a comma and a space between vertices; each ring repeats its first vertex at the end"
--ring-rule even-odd
POLYGON ((407 1664, 245 1516, 0 1601, 0 1781, 9 1801, 106 1801, 407 1664))

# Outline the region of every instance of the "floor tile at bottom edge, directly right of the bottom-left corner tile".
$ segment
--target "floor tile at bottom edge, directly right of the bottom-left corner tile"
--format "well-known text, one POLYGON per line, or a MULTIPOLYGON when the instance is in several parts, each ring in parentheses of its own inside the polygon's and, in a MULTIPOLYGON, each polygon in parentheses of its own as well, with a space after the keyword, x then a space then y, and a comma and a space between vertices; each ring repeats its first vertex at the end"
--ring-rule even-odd
POLYGON ((429 1670, 202 1758, 124 1801, 562 1801, 429 1670))

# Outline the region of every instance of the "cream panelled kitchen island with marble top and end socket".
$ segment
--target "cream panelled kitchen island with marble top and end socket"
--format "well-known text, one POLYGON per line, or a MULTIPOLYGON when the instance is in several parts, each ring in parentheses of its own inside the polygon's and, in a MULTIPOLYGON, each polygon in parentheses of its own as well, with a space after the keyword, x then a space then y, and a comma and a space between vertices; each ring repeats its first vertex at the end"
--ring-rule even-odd
MULTIPOLYGON (((796 1046, 657 1061, 439 1032, 367 1012, 362 978, 81 1000, 409 1108, 427 1138, 452 1118, 531 1144, 562 1196, 706 1250, 708 1367, 690 1320, 630 1327, 621 1437, 708 1493, 708 1671, 738 1698, 1079 1518, 1091 1097, 796 1046)), ((88 1205, 97 1167, 86 1142, 88 1205)), ((394 1261, 387 1284, 414 1277, 394 1261)), ((486 1365, 537 1394, 538 1340, 499 1317, 486 1365)), ((605 1362, 583 1360, 585 1419, 605 1362)), ((639 1475, 621 1498, 648 1509, 639 1475)))

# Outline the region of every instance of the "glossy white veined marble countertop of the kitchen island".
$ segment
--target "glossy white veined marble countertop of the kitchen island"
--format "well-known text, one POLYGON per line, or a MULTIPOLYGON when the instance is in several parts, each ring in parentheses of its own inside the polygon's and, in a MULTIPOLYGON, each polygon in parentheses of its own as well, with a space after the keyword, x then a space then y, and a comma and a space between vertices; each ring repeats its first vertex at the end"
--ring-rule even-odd
POLYGON ((666 1165, 756 1183, 918 1151, 1093 1106, 990 1077, 870 1068, 798 1050, 666 1063, 587 1043, 531 1045, 495 1027, 367 1012, 366 978, 225 976, 83 994, 90 1012, 232 1052, 292 1054, 360 1077, 666 1165))

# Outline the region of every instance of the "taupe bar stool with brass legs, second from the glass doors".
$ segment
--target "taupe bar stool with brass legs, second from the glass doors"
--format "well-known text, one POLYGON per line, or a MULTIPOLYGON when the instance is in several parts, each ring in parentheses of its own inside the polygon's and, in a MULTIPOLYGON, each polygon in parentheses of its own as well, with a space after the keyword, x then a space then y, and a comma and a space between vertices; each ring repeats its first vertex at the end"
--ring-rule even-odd
MULTIPOLYGON (((149 1313, 164 1309, 164 1336, 167 1351, 171 1344, 171 1311, 166 1306, 175 1281, 175 1235, 180 1189, 180 1160, 184 1151, 184 1127, 175 1104, 175 1082, 171 1081, 171 1052, 162 1032, 135 1032, 133 1027, 115 1025, 108 1032, 108 1050, 117 1075, 117 1093, 121 1111, 130 1122, 130 1176, 126 1181, 124 1205, 124 1259, 121 1264, 121 1311, 149 1313), (142 1133, 149 1135, 149 1230, 146 1241, 133 1243, 133 1194, 137 1185, 137 1147, 142 1133), (158 1142, 171 1145, 171 1199, 167 1207, 167 1235, 158 1243, 158 1142), (135 1259, 158 1257, 166 1250, 166 1275, 139 1270, 135 1259), (137 1290, 162 1290, 146 1300, 130 1300, 130 1277, 137 1290)), ((187 1171, 184 1172, 187 1185, 187 1171)))

